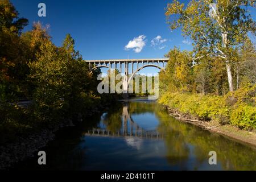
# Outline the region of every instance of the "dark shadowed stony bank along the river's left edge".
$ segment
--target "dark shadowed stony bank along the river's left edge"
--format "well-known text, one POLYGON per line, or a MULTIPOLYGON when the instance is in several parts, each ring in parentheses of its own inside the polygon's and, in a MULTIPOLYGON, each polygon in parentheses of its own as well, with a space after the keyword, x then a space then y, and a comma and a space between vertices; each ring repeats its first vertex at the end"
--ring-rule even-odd
POLYGON ((93 114, 100 113, 100 110, 108 109, 109 104, 100 105, 94 110, 82 116, 77 114, 77 121, 63 119, 51 127, 44 127, 31 135, 20 136, 14 142, 0 146, 0 170, 8 170, 16 163, 37 155, 40 148, 46 147, 49 142, 55 139, 55 133, 64 127, 73 127, 77 123, 85 122, 86 118, 93 114))

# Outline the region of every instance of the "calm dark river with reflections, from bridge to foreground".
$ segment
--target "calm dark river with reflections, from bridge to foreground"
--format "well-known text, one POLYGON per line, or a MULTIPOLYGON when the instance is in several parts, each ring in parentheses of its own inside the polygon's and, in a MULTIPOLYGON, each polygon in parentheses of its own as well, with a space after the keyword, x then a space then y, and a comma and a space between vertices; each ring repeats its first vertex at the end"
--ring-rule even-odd
POLYGON ((16 169, 256 170, 256 149, 177 121, 146 98, 119 102, 79 126, 61 129, 38 157, 16 169), (217 164, 209 164, 209 152, 217 164))

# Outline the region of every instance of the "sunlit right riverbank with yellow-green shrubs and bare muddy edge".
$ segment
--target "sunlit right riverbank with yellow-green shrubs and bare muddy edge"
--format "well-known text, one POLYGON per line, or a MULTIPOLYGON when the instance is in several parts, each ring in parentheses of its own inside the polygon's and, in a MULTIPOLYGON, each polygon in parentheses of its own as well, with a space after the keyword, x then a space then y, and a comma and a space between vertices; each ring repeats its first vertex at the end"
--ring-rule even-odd
POLYGON ((256 146, 256 85, 224 96, 166 92, 159 103, 176 119, 256 146))

